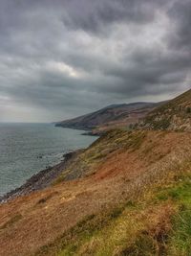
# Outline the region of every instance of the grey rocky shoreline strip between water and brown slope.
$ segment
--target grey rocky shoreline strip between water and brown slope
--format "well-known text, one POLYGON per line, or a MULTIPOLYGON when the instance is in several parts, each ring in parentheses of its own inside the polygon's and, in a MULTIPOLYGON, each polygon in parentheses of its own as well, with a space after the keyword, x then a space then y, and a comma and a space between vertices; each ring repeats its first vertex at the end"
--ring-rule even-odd
POLYGON ((60 163, 54 165, 53 167, 44 169, 35 175, 32 175, 32 177, 30 177, 20 187, 11 190, 3 196, 0 196, 0 204, 5 203, 13 198, 26 196, 32 192, 43 190, 51 186, 58 175, 67 169, 68 165, 71 163, 71 161, 73 161, 74 157, 81 151, 83 150, 81 149, 65 153, 63 155, 64 159, 60 163))

